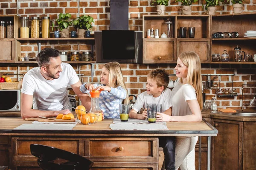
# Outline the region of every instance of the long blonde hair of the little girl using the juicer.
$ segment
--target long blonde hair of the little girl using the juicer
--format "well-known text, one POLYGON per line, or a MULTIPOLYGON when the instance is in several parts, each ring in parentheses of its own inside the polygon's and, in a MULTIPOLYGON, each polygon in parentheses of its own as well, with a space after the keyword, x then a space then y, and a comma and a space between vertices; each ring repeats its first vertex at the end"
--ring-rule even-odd
POLYGON ((118 62, 109 62, 109 63, 105 63, 103 67, 105 67, 105 69, 109 71, 109 74, 108 74, 109 86, 111 87, 122 86, 122 88, 126 90, 126 98, 123 101, 123 103, 129 104, 128 92, 125 87, 125 81, 122 76, 122 69, 120 64, 118 62))

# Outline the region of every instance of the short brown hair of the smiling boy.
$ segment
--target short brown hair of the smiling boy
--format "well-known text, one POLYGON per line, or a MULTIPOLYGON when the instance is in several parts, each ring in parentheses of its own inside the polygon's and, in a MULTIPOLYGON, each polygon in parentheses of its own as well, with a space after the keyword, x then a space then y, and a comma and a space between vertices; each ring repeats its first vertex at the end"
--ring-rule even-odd
POLYGON ((168 73, 164 69, 153 69, 148 73, 147 79, 151 78, 157 82, 157 87, 163 86, 167 88, 170 78, 168 73))

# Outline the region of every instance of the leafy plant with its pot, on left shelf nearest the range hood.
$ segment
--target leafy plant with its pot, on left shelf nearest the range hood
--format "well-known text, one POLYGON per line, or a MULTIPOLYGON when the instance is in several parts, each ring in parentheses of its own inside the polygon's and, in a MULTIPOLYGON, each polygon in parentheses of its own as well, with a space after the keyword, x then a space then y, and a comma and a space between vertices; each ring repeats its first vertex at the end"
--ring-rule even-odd
POLYGON ((77 20, 73 20, 73 25, 78 28, 78 37, 79 38, 83 38, 84 37, 84 33, 85 37, 90 37, 90 29, 92 29, 92 23, 94 23, 93 21, 93 17, 91 17, 90 15, 83 15, 81 17, 78 17, 77 20))

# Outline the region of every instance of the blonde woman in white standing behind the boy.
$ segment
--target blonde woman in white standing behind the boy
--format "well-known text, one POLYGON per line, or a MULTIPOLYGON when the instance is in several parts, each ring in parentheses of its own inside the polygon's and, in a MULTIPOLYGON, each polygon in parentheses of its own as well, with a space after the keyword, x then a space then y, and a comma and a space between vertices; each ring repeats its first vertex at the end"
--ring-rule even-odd
MULTIPOLYGON (((201 122, 203 107, 200 58, 195 52, 183 52, 177 59, 176 76, 180 80, 172 90, 172 116, 157 113, 158 121, 201 122)), ((195 144, 198 136, 177 137, 175 168, 195 170, 195 144)))

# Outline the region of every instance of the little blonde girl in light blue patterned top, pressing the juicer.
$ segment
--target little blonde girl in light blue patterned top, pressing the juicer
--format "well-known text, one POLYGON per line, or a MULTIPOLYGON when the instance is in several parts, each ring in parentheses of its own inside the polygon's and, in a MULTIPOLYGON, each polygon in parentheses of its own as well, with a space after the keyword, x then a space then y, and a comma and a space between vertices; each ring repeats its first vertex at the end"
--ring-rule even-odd
POLYGON ((121 66, 117 62, 104 64, 100 73, 101 84, 84 83, 80 91, 89 93, 91 90, 102 91, 99 95, 99 107, 104 118, 120 118, 119 104, 128 104, 128 92, 122 77, 121 66))

